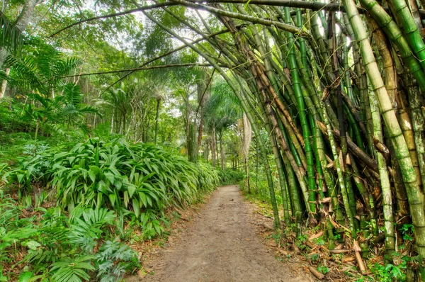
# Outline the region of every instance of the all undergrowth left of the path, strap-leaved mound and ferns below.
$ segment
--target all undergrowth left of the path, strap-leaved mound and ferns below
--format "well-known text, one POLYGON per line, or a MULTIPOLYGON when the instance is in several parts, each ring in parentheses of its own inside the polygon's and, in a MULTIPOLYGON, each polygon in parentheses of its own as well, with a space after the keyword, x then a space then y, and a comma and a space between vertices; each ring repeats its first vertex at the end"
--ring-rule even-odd
POLYGON ((220 182, 208 164, 123 138, 18 155, 0 165, 0 281, 120 281, 140 268, 124 242, 163 235, 166 209, 220 182))

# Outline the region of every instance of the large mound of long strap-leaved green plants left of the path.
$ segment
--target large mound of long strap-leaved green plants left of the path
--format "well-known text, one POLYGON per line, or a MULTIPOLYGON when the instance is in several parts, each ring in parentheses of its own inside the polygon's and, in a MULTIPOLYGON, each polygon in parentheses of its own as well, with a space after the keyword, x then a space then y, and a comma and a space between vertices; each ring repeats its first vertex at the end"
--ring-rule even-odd
POLYGON ((113 209, 141 225, 149 239, 164 231, 158 215, 165 208, 191 203, 199 191, 210 191, 219 182, 208 164, 193 164, 156 145, 130 144, 121 138, 93 139, 70 149, 26 148, 29 157, 5 176, 10 184, 18 184, 20 194, 35 184, 51 186, 57 203, 72 214, 77 205, 113 209))

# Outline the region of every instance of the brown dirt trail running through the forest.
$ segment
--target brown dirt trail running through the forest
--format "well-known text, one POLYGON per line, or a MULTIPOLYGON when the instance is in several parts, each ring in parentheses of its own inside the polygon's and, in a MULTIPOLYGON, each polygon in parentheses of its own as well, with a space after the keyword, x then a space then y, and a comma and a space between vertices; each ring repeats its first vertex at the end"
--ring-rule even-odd
POLYGON ((310 281, 294 276, 267 252, 249 223, 249 211, 238 186, 222 186, 142 281, 310 281))

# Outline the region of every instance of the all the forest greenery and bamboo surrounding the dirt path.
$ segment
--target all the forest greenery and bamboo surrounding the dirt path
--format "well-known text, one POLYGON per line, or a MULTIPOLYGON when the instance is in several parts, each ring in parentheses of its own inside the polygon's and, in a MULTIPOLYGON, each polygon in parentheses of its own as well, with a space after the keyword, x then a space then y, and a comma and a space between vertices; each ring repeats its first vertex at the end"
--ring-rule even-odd
POLYGON ((1 279, 117 281, 228 183, 320 275, 423 281, 424 5, 2 1, 1 279))

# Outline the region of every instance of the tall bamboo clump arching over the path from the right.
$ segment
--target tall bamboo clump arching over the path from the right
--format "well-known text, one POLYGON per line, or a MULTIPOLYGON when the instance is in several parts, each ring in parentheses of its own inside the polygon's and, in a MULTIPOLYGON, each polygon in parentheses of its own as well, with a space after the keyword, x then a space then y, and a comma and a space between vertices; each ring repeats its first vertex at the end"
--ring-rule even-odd
POLYGON ((412 223, 409 254, 419 257, 425 280, 424 1, 133 4, 136 9, 105 17, 139 11, 183 43, 142 67, 190 48, 214 69, 210 74, 227 81, 254 137, 268 133, 278 187, 266 146, 256 140, 277 228, 295 222, 302 232, 302 226, 319 225, 329 249, 346 239, 358 243, 363 256, 385 239, 391 261, 402 243, 397 232, 412 223), (198 18, 182 17, 181 6, 198 18), (164 14, 198 39, 162 23, 164 14))

